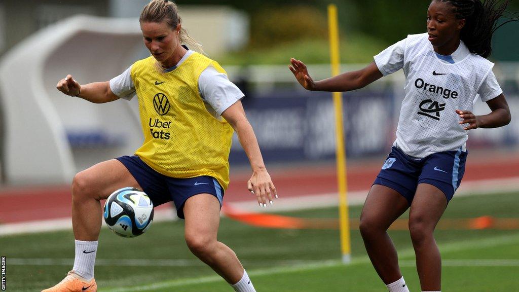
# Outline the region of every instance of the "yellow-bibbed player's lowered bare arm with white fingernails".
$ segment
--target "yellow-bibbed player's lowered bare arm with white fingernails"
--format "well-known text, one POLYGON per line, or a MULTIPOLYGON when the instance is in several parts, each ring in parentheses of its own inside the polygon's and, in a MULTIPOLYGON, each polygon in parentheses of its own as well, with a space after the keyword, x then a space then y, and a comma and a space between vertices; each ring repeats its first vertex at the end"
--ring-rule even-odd
POLYGON ((274 183, 272 183, 270 175, 265 168, 260 146, 258 145, 256 135, 254 135, 254 130, 245 116, 241 101, 231 105, 222 113, 222 116, 235 129, 240 144, 249 158, 252 168, 252 177, 247 183, 249 191, 256 195, 260 206, 266 207, 267 198, 270 204, 272 204, 272 193, 277 197, 276 187, 274 187, 274 183))

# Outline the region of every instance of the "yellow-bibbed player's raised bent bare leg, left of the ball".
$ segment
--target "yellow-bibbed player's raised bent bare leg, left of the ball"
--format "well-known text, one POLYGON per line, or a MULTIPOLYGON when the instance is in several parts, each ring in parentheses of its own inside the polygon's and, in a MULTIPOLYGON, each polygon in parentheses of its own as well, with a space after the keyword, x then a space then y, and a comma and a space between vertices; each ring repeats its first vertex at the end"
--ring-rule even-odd
POLYGON ((100 200, 124 187, 140 188, 118 160, 98 163, 79 172, 72 182, 72 226, 79 241, 97 241, 102 223, 100 200))

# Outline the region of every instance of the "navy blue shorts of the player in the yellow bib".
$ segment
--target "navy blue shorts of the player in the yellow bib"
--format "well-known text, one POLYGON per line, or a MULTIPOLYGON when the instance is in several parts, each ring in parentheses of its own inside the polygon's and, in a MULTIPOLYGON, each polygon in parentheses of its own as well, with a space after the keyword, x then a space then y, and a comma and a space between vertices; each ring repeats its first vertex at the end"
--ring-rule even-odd
POLYGON ((149 196, 153 206, 173 201, 176 215, 184 219, 184 203, 189 197, 207 193, 215 196, 222 207, 224 191, 220 183, 210 176, 194 178, 172 178, 160 174, 144 163, 139 156, 121 156, 116 158, 128 168, 130 174, 149 196))

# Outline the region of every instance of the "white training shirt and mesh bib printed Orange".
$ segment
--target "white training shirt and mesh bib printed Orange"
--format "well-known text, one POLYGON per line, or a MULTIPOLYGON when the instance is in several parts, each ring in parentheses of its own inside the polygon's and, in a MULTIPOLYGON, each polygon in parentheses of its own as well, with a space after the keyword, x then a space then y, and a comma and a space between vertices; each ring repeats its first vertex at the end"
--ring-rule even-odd
POLYGON ((478 94, 488 101, 502 93, 491 73, 494 64, 471 54, 463 42, 450 56, 454 63, 443 57, 449 56, 436 54, 427 33, 408 35, 374 57, 384 76, 404 69, 395 145, 407 155, 423 158, 464 147, 468 133, 455 110, 472 111, 478 94))

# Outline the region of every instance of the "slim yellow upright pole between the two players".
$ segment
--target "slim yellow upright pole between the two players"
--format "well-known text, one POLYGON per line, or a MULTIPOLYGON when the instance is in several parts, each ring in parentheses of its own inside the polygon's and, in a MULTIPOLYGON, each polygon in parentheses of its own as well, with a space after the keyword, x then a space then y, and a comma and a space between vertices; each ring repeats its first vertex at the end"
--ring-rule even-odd
MULTIPOLYGON (((339 75, 339 30, 337 21, 337 6, 328 5, 328 26, 330 34, 330 58, 332 64, 332 76, 339 75)), ((339 220, 340 220, 340 250, 343 254, 343 262, 351 261, 351 243, 348 217, 348 197, 346 179, 346 147, 344 144, 343 128, 343 99, 340 92, 333 92, 335 108, 335 135, 337 140, 337 182, 339 189, 339 220)))

